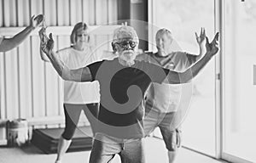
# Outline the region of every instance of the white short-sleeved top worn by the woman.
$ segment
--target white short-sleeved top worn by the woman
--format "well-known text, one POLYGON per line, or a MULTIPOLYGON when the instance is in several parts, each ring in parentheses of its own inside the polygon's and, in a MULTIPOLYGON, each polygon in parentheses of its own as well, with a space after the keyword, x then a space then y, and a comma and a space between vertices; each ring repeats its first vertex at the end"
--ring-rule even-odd
MULTIPOLYGON (((79 51, 74 48, 64 48, 57 52, 71 70, 90 65, 96 62, 97 56, 91 53, 90 47, 79 51)), ((98 82, 68 82, 64 81, 65 104, 90 104, 99 103, 100 87, 98 82)))

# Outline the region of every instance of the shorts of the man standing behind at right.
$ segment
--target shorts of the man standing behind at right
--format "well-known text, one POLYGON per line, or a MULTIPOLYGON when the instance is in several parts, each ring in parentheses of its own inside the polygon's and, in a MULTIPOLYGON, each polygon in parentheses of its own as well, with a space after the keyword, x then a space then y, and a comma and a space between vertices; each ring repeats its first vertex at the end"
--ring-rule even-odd
POLYGON ((181 131, 172 127, 173 117, 176 112, 161 113, 150 110, 144 117, 144 132, 148 136, 154 129, 159 126, 160 132, 166 143, 166 149, 176 151, 181 146, 181 131))

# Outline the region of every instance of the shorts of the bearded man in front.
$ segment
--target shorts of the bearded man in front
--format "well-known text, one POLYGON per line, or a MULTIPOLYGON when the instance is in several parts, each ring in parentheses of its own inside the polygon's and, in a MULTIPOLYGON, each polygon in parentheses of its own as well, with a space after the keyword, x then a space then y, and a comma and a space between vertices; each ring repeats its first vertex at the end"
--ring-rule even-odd
POLYGON ((120 139, 96 133, 90 163, 106 163, 118 154, 122 162, 145 162, 143 138, 120 139), (123 143, 120 143, 123 142, 123 143))

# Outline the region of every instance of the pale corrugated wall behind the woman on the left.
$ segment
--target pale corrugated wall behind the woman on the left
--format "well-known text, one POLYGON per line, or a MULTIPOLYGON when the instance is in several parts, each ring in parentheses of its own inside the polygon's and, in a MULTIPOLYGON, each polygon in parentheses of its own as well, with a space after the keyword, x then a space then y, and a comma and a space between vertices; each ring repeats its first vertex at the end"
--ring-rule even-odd
MULTIPOLYGON (((72 26, 79 21, 95 29, 117 20, 117 0, 0 0, 0 10, 0 35, 4 37, 29 25, 33 14, 44 14, 48 30, 55 34, 55 49, 69 46, 72 26)), ((103 43, 101 49, 110 49, 113 29, 104 29, 105 33, 95 32, 92 40, 96 45, 103 43)), ((43 127, 63 122, 61 78, 40 59, 38 49, 35 31, 18 48, 0 53, 0 143, 6 120, 26 118, 43 127)))

